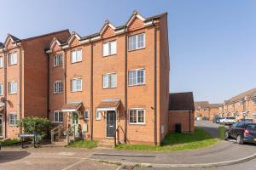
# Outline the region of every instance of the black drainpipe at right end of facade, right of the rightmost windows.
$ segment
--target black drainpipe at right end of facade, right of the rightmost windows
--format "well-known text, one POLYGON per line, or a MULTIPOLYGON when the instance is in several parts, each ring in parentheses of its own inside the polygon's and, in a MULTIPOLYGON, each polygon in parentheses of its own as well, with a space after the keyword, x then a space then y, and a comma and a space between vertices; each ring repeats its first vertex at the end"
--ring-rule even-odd
POLYGON ((154 20, 152 20, 154 26, 154 145, 157 145, 157 53, 156 53, 156 28, 154 20))

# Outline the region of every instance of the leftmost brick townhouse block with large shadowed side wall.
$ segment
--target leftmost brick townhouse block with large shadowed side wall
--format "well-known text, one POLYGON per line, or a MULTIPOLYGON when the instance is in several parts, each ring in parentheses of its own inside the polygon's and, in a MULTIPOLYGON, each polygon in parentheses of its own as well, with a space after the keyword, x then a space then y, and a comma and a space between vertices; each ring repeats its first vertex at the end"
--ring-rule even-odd
POLYGON ((0 138, 16 138, 17 120, 47 117, 48 57, 44 48, 52 38, 66 41, 68 30, 19 39, 12 35, 0 43, 0 138))

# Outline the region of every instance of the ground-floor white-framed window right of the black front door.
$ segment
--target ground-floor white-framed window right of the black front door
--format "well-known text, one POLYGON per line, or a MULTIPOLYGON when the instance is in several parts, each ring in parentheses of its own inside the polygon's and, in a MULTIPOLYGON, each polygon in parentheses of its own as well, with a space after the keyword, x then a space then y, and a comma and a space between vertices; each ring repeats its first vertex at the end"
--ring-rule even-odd
POLYGON ((131 109, 129 111, 130 124, 145 124, 145 110, 131 109))

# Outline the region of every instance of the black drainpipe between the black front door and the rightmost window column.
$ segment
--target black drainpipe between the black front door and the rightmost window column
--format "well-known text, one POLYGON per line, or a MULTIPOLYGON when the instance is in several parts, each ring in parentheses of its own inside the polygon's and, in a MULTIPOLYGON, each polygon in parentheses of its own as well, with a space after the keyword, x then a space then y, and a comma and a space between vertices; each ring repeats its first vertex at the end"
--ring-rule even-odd
POLYGON ((125 26, 125 144, 127 142, 127 36, 125 26))

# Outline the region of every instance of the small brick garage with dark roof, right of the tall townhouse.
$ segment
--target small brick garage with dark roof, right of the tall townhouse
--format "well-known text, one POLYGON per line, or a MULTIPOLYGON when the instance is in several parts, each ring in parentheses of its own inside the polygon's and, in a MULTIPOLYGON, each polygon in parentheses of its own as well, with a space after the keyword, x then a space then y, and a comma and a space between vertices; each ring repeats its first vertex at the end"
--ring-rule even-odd
POLYGON ((194 133, 195 105, 192 92, 169 94, 169 131, 177 132, 177 124, 180 124, 182 133, 194 133))

